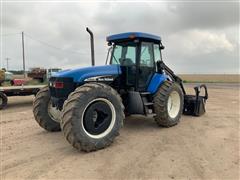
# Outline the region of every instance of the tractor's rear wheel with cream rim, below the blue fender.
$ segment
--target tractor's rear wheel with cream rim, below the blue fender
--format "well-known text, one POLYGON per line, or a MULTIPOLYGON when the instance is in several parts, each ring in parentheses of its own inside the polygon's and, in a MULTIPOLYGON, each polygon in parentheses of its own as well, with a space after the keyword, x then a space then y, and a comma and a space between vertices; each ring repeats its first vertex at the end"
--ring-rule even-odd
POLYGON ((177 83, 165 81, 154 96, 155 121, 159 126, 178 124, 183 111, 183 92, 177 83))

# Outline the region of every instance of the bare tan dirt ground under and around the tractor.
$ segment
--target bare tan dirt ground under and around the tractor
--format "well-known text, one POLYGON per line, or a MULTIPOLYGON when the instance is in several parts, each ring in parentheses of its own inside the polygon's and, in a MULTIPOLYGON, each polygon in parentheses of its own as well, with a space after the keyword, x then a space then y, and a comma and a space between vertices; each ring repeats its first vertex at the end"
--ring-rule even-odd
POLYGON ((239 85, 212 84, 209 96, 204 116, 182 116, 172 128, 127 118, 115 142, 92 153, 40 128, 33 96, 9 98, 0 121, 1 179, 239 179, 239 85))

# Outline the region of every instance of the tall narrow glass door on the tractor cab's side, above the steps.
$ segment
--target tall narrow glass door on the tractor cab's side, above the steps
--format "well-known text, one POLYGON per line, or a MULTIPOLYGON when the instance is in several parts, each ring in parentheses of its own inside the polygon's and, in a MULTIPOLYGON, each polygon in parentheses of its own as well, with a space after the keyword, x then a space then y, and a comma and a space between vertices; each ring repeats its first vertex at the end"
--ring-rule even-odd
POLYGON ((146 91, 153 74, 156 72, 153 53, 153 43, 151 42, 141 43, 138 68, 139 68, 137 74, 138 90, 146 91))

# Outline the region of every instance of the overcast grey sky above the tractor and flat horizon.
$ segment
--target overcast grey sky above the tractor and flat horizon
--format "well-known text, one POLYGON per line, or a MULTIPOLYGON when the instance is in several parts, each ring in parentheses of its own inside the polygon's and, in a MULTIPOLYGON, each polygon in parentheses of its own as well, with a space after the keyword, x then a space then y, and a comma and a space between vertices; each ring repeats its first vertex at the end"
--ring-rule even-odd
POLYGON ((239 1, 7 2, 1 3, 1 66, 63 69, 105 64, 106 36, 121 32, 159 35, 164 62, 178 74, 235 74, 239 66, 239 1))

